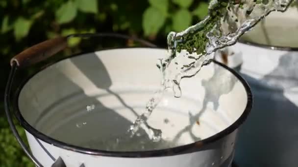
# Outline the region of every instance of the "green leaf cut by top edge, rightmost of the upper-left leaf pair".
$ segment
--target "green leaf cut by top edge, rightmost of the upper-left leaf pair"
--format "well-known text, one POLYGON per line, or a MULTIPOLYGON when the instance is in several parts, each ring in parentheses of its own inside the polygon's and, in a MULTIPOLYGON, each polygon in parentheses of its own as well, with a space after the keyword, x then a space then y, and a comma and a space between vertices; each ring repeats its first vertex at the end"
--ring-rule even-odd
POLYGON ((98 13, 98 0, 76 0, 78 10, 85 13, 98 13))

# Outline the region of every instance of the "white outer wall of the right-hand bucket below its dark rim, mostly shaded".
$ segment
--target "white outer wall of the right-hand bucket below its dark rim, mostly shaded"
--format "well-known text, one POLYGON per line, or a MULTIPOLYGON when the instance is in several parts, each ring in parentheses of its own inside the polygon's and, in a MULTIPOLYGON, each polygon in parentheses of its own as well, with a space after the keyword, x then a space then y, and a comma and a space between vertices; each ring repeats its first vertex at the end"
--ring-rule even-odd
POLYGON ((236 162, 241 167, 297 167, 298 52, 237 43, 240 74, 254 105, 241 128, 236 162))

